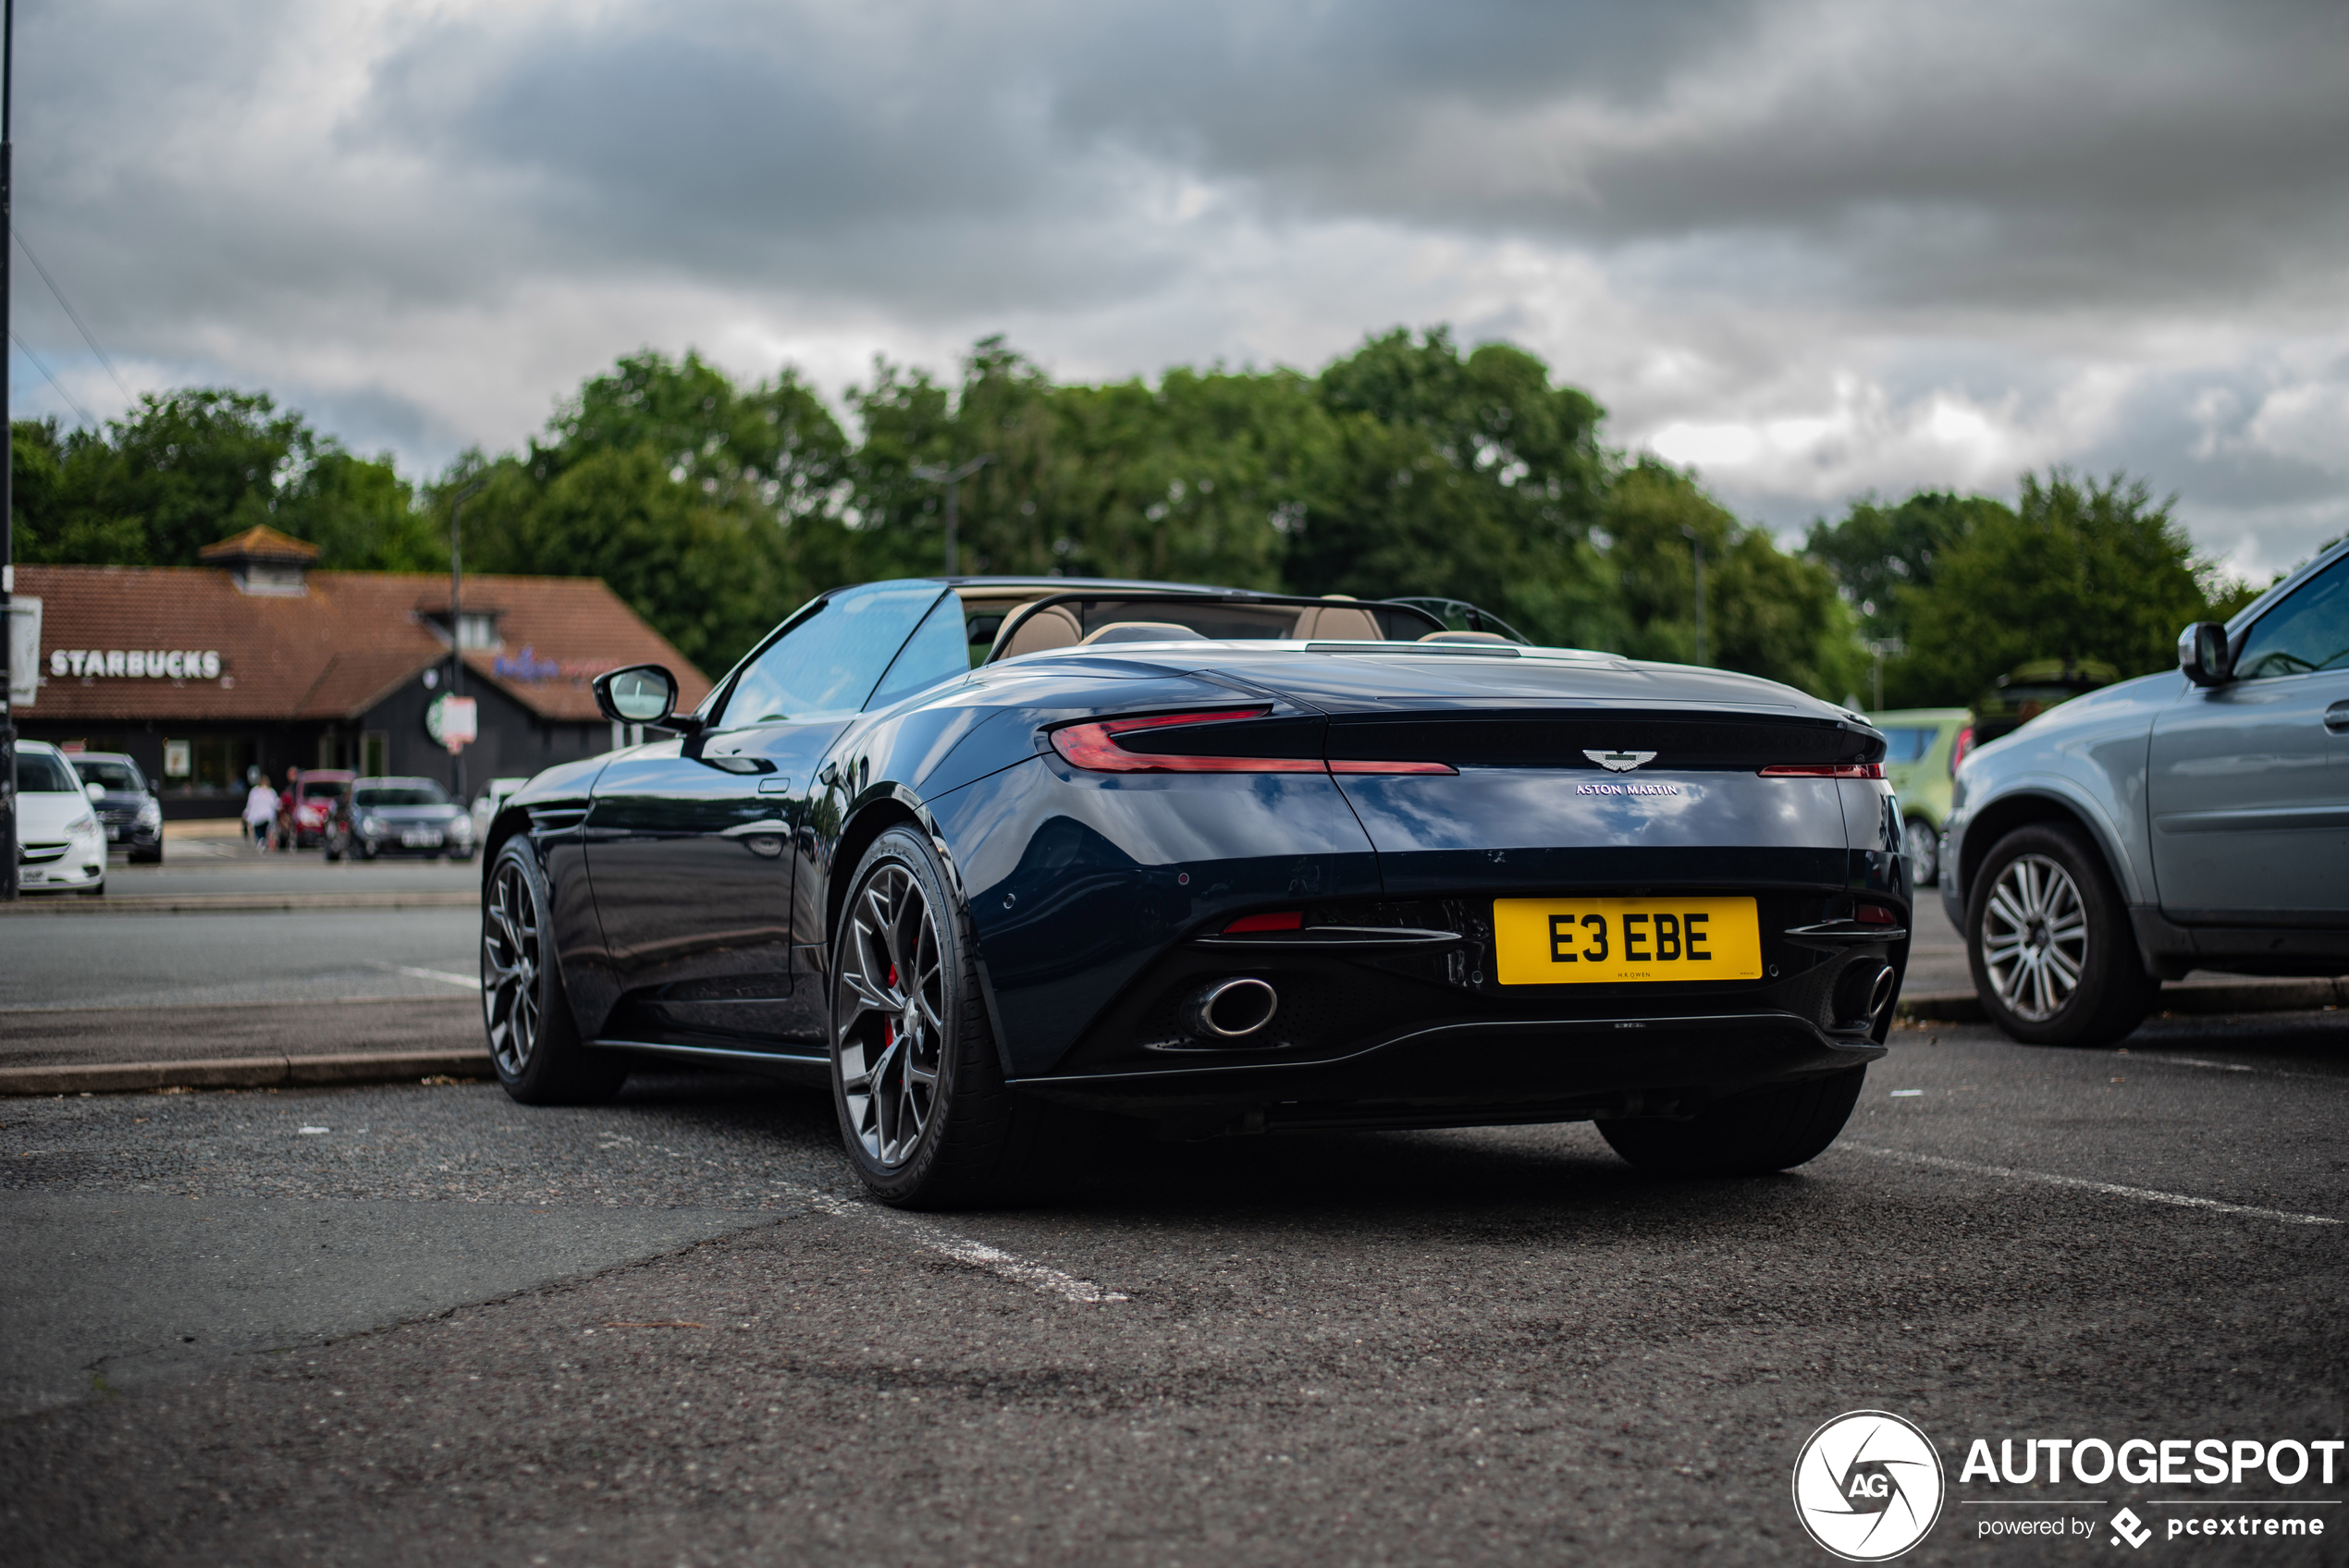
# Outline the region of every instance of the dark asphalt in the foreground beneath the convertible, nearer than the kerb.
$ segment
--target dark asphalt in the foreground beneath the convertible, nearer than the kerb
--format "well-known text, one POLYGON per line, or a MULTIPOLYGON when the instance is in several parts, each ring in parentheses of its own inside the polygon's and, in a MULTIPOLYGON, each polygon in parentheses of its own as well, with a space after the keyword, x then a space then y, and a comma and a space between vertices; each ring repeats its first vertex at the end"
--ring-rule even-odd
POLYGON ((911 1218, 822 1096, 754 1080, 12 1101, 0 1530, 26 1563, 1809 1563, 1792 1460, 1867 1406, 1950 1462, 1907 1561, 2109 1561, 2123 1502, 2340 1514, 2349 1476, 1957 1460, 2342 1434, 2344 1103, 2342 1014, 2126 1054, 1905 1028, 1769 1181, 1647 1181, 1588 1127, 1353 1134, 911 1218), (2013 1516, 2095 1535, 1980 1537, 2013 1516))

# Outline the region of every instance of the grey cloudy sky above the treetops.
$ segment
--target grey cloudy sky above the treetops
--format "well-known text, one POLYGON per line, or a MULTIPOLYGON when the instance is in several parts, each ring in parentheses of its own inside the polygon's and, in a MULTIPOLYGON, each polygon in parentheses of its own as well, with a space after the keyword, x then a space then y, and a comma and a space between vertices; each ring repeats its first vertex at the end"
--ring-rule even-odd
MULTIPOLYGON (((1510 338, 1797 528, 2126 467, 2349 528, 2349 7, 23 0, 16 333, 409 472, 639 345, 839 390, 1510 338)), ((19 411, 78 415, 12 357, 19 411)))

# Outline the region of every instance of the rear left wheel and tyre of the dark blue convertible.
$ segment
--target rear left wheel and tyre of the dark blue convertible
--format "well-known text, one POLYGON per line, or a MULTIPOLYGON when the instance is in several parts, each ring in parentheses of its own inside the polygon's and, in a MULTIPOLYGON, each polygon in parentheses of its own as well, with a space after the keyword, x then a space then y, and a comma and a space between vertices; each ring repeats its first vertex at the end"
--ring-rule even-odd
POLYGON ((930 840, 881 833, 832 944, 832 1108, 857 1178, 900 1209, 1048 1195, 1097 1127, 1003 1084, 972 953, 930 840))

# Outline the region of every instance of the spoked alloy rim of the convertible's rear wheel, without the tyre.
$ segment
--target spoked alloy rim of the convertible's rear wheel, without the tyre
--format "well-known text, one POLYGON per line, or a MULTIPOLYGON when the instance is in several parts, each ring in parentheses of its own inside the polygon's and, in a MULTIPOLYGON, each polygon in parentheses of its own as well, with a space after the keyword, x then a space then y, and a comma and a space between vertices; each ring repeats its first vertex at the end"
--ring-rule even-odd
POLYGON ((883 1169, 914 1157, 937 1110, 947 1047, 947 962, 937 911, 900 864, 857 890, 841 944, 834 1049, 841 1099, 864 1155, 883 1169))

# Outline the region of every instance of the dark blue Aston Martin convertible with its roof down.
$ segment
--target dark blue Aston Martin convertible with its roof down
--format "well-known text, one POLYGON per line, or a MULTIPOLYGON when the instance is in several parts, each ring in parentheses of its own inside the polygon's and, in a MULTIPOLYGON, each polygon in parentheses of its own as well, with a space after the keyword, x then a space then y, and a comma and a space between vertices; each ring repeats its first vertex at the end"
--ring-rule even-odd
POLYGON ((862 1181, 968 1204, 1102 1129, 1595 1120, 1773 1171, 1884 1054, 1910 883, 1884 735, 1715 669, 1412 603, 914 580, 824 594, 665 739, 484 843, 505 1089, 646 1059, 829 1084, 862 1181))

